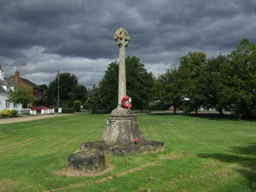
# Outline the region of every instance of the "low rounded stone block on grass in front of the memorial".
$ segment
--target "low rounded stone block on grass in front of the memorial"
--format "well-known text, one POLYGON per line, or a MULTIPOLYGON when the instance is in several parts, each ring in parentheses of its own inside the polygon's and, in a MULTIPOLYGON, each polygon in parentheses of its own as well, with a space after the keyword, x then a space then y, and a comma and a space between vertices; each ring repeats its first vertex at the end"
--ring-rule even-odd
POLYGON ((95 173, 107 168, 104 154, 96 151, 82 151, 69 156, 68 166, 80 172, 95 173))

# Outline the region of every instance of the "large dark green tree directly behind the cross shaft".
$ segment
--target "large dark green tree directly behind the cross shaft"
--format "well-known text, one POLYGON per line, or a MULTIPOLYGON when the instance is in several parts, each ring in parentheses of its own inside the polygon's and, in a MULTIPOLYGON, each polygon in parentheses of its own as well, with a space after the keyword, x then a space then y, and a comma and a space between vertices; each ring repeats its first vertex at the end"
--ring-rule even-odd
MULTIPOLYGON (((146 109, 151 101, 153 74, 148 73, 139 58, 126 57, 126 94, 132 97, 133 109, 146 109)), ((94 85, 91 97, 93 113, 110 113, 118 105, 119 63, 111 62, 99 83, 94 85)))

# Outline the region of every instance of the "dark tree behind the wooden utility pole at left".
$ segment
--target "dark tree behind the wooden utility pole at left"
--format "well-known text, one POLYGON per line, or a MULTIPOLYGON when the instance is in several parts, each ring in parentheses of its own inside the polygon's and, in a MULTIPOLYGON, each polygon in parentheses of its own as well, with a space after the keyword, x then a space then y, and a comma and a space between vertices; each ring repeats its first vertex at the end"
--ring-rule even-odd
MULTIPOLYGON (((78 78, 69 72, 59 74, 59 98, 61 100, 71 100, 70 92, 74 86, 78 85, 78 78)), ((48 101, 56 102, 58 96, 58 75, 54 81, 49 83, 48 101)))

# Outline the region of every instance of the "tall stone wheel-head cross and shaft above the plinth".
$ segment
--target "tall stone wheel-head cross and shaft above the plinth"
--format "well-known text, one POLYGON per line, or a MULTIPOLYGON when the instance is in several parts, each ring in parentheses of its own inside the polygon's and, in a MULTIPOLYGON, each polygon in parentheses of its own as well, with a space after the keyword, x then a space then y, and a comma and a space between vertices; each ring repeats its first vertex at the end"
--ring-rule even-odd
POLYGON ((126 79, 125 79, 125 47, 128 46, 131 38, 124 28, 116 30, 114 35, 116 44, 119 46, 119 77, 118 77, 118 106, 121 99, 126 95, 126 79))

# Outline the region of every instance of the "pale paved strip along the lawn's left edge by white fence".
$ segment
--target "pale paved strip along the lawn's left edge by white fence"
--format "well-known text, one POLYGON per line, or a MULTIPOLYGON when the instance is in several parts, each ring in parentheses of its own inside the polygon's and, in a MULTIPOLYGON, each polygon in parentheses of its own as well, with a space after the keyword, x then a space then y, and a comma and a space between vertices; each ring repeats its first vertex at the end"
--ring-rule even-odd
POLYGON ((72 115, 72 114, 55 113, 55 114, 34 115, 34 116, 21 115, 20 117, 0 119, 0 124, 16 123, 16 122, 23 122, 23 121, 32 121, 32 120, 37 120, 37 119, 46 119, 46 118, 60 117, 60 116, 66 116, 66 115, 72 115))

